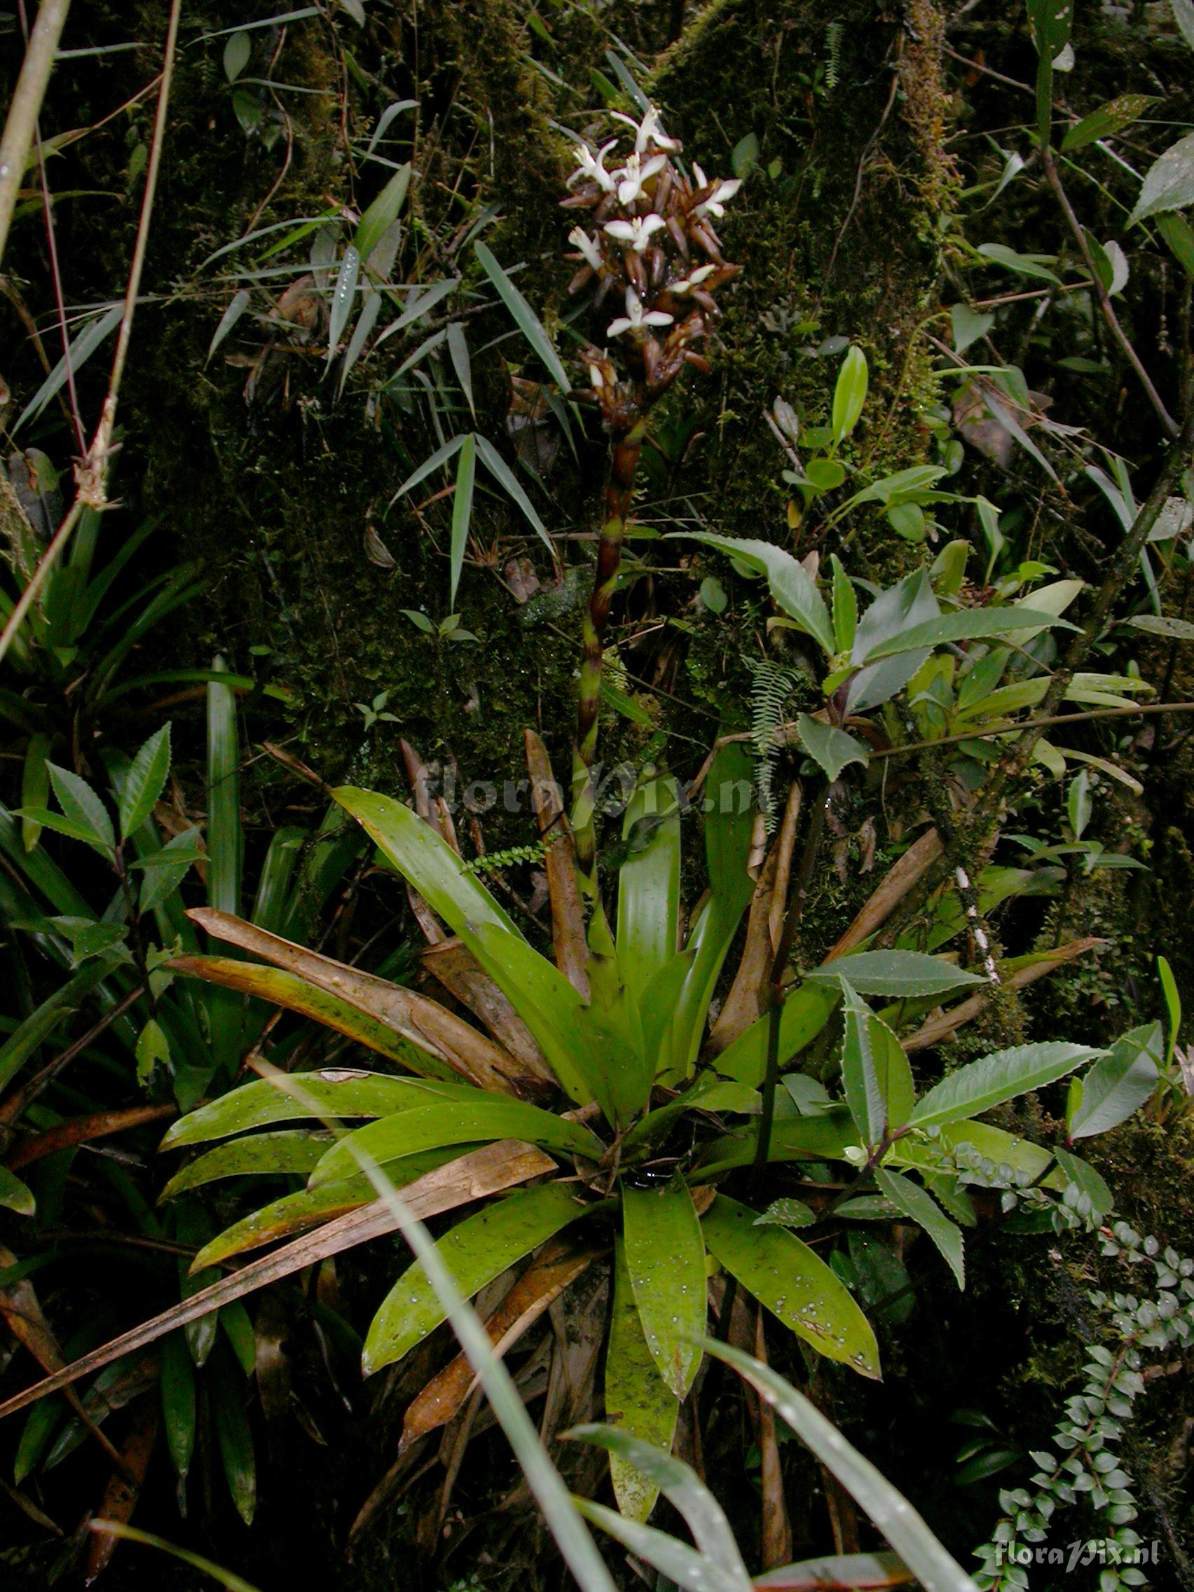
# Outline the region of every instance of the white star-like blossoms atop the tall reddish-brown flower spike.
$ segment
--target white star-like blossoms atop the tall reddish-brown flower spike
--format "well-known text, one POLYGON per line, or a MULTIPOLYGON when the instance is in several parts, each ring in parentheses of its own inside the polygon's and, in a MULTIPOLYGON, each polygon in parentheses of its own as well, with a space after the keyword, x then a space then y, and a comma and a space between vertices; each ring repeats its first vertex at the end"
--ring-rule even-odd
MULTIPOLYGON (((602 201, 602 209, 608 213, 610 199, 629 212, 621 217, 602 223, 602 232, 607 237, 615 239, 619 244, 629 245, 632 255, 645 255, 651 247, 651 239, 656 232, 669 228, 669 221, 657 215, 654 210, 646 209, 642 213, 635 213, 643 201, 650 205, 650 196, 645 194, 645 185, 657 177, 669 164, 669 154, 680 148, 677 139, 669 139, 659 121, 659 110, 650 105, 642 121, 635 121, 632 116, 624 116, 621 111, 615 111, 615 119, 626 123, 627 127, 634 129, 634 150, 626 156, 626 162, 608 170, 605 161, 610 151, 616 145, 616 139, 603 143, 595 153, 587 143, 576 145, 576 170, 568 178, 568 186, 572 188, 578 181, 595 183, 602 194, 608 196, 602 201)), ((681 180, 683 181, 683 180, 681 180)), ((721 180, 710 181, 699 166, 693 166, 693 180, 681 186, 683 193, 691 196, 700 194, 705 189, 705 197, 697 204, 691 205, 689 212, 693 217, 704 220, 705 217, 723 217, 726 213, 726 204, 734 197, 742 183, 739 180, 721 180)), ((672 223, 675 226, 675 223, 672 223)), ((602 255, 602 236, 600 232, 591 234, 583 226, 575 226, 568 232, 568 242, 576 248, 576 252, 584 259, 586 266, 594 271, 599 277, 608 269, 608 259, 602 255)), ((667 290, 675 295, 691 293, 699 288, 718 267, 715 264, 699 266, 689 271, 681 280, 667 283, 667 290)), ((629 272, 634 280, 642 287, 642 267, 635 267, 635 272, 629 272)), ((640 333, 646 326, 669 326, 675 320, 665 310, 645 309, 640 293, 634 285, 626 288, 626 315, 619 315, 613 320, 607 330, 608 338, 618 338, 622 333, 640 333)))

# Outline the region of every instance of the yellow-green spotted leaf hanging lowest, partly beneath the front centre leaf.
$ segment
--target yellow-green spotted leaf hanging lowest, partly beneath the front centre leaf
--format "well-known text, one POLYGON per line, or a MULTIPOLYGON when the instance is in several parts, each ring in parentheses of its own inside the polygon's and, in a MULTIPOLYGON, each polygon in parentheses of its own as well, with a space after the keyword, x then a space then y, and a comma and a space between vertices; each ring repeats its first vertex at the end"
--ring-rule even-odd
MULTIPOLYGON (((615 1240, 613 1305, 605 1348, 605 1418, 621 1431, 670 1452, 680 1401, 661 1379, 643 1336, 626 1245, 615 1240)), ((618 1508, 632 1520, 646 1520, 659 1496, 659 1484, 635 1469, 619 1453, 610 1453, 610 1476, 618 1508)))

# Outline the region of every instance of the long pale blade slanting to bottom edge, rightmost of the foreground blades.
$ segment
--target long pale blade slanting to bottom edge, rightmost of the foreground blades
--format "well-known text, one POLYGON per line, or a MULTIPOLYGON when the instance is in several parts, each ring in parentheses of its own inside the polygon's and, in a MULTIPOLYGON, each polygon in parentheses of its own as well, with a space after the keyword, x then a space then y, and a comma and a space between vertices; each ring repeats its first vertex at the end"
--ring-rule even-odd
POLYGON ((977 1592, 966 1571, 955 1563, 917 1511, 869 1460, 847 1442, 831 1420, 782 1375, 759 1360, 729 1344, 707 1344, 718 1360, 734 1366, 806 1442, 826 1469, 833 1471, 852 1498, 874 1520, 925 1592, 977 1592))

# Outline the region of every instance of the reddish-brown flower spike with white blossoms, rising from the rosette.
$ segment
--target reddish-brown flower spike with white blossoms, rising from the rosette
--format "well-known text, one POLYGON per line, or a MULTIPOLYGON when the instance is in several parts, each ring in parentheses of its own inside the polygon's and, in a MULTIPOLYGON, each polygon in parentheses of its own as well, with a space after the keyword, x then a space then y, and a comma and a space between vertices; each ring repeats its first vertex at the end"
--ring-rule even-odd
POLYGON ((605 161, 616 139, 597 151, 587 143, 578 145, 579 164, 568 180, 568 188, 575 191, 564 201, 572 210, 589 212, 595 223, 595 232, 586 226, 568 232, 568 242, 576 247, 572 258, 579 263, 568 291, 578 293, 595 282, 597 309, 610 293, 616 293, 626 309, 605 331, 607 338, 619 339, 626 371, 619 373, 605 349, 591 345, 583 353, 589 387, 573 393, 597 404, 610 435, 610 479, 597 543, 597 573, 584 618, 573 769, 576 856, 586 874, 592 874, 595 855, 591 771, 597 758, 603 635, 618 584, 646 417, 686 365, 708 369, 708 361, 693 344, 708 334, 718 315, 713 295, 742 269, 723 258, 712 221, 724 215, 726 202, 742 185, 718 178, 710 181, 696 164, 691 175, 681 170, 672 159, 680 145, 659 126, 654 107, 642 123, 615 115, 634 127, 634 150, 621 167, 607 170, 605 161), (664 328, 669 328, 665 336, 664 328))

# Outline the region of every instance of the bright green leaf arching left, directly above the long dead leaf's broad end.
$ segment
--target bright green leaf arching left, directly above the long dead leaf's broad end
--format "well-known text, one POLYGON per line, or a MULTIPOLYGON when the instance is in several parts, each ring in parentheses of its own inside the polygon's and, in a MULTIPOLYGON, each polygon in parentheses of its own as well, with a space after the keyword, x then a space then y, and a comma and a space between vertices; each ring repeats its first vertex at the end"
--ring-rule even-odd
POLYGON ((600 1138, 579 1122, 568 1122, 524 1100, 474 1089, 468 1100, 436 1100, 355 1129, 328 1149, 310 1175, 310 1186, 342 1183, 358 1164, 355 1151, 365 1151, 385 1165, 423 1149, 497 1138, 519 1138, 559 1154, 587 1156, 589 1161, 600 1161, 603 1151, 600 1138))

